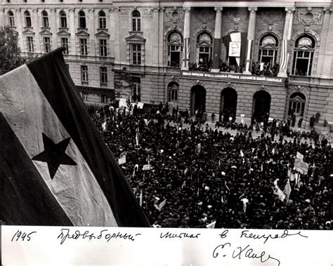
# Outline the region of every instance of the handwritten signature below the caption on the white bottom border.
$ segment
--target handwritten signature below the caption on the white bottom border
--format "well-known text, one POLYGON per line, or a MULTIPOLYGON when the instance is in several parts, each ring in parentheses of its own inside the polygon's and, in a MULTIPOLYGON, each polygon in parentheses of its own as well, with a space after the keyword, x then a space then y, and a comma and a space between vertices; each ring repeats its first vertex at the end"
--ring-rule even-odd
MULTIPOLYGON (((217 258, 218 255, 226 257, 228 254, 228 249, 230 249, 231 246, 232 245, 229 242, 216 246, 213 251, 213 258, 217 258), (220 254, 221 250, 223 250, 223 254, 220 254), (218 253, 218 251, 220 253, 218 253)), ((231 255, 232 258, 238 258, 239 260, 242 260, 242 258, 258 259, 261 263, 268 260, 275 260, 276 262, 278 262, 278 266, 280 265, 280 260, 278 260, 278 258, 273 258, 270 254, 267 254, 266 251, 256 252, 250 245, 247 245, 245 247, 237 246, 234 249, 231 248, 231 250, 232 253, 229 253, 229 255, 231 255)))

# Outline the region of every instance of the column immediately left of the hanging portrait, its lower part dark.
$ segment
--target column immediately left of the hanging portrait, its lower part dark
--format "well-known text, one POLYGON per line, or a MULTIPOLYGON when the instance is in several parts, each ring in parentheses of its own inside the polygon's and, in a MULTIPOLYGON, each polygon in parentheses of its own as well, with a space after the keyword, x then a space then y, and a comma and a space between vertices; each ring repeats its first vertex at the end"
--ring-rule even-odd
POLYGON ((213 69, 211 72, 220 71, 221 58, 221 26, 222 26, 222 10, 223 8, 214 8, 216 11, 215 29, 214 29, 214 51, 213 51, 213 69))

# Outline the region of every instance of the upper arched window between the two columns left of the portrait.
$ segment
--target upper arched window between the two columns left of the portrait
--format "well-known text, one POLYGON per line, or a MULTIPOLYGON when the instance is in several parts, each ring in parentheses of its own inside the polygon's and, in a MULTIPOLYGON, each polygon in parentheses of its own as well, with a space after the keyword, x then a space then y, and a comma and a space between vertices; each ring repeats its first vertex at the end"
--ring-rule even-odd
POLYGON ((197 64, 211 64, 211 54, 213 52, 213 39, 207 32, 202 32, 197 36, 197 64))

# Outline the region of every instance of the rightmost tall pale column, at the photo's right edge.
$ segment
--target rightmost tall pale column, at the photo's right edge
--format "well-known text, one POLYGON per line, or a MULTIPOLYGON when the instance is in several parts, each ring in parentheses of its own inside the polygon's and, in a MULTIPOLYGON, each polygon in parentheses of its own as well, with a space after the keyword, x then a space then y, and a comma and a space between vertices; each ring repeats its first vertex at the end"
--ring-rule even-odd
MULTIPOLYGON (((318 65, 317 72, 315 73, 315 77, 324 77, 329 78, 329 70, 330 65, 326 65, 325 62, 327 60, 327 47, 329 44, 332 44, 332 40, 329 39, 329 20, 331 18, 331 10, 329 8, 324 8, 324 19, 322 22, 322 34, 320 36, 320 48, 318 55, 318 65), (325 65, 325 67, 324 67, 325 65), (327 69, 328 67, 328 69, 327 69), (327 72, 328 70, 328 72, 327 72), (328 74, 327 74, 328 73, 328 74)), ((332 31, 332 29, 330 29, 332 31)), ((332 50, 332 49, 331 49, 332 50)))

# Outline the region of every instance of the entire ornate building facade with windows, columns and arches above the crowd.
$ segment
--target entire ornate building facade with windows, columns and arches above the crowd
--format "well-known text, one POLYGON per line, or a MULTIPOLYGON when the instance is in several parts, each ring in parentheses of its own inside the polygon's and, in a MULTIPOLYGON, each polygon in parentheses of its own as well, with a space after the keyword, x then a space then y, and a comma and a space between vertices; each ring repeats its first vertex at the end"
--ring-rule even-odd
POLYGON ((88 103, 333 124, 332 1, 2 1, 22 55, 65 46, 88 103))

